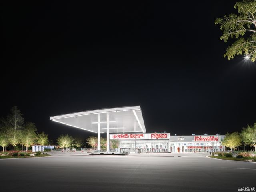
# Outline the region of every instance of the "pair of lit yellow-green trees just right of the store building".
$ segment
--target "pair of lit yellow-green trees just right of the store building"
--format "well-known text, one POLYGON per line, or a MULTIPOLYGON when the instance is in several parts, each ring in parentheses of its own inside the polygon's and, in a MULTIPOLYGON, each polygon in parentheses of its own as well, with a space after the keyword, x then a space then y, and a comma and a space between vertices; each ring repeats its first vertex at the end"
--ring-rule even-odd
POLYGON ((243 128, 241 133, 227 133, 222 140, 222 145, 229 147, 231 151, 242 144, 253 146, 256 152, 256 122, 254 125, 248 125, 246 128, 243 128))

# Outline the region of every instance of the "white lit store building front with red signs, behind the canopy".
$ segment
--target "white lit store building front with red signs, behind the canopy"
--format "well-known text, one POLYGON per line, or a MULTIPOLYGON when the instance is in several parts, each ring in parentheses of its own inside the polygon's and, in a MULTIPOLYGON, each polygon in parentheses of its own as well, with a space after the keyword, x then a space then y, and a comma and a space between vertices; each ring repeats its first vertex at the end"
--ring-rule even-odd
POLYGON ((224 151, 223 135, 170 136, 170 133, 110 134, 119 147, 130 152, 216 152, 224 151))

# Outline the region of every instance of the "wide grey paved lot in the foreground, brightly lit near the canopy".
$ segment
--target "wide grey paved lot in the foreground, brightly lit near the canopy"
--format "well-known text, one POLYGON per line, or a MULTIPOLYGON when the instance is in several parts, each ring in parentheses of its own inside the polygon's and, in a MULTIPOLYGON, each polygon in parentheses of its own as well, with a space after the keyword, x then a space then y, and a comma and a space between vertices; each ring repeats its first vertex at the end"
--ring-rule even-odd
POLYGON ((256 188, 256 163, 180 155, 0 159, 0 191, 236 192, 238 187, 256 188))

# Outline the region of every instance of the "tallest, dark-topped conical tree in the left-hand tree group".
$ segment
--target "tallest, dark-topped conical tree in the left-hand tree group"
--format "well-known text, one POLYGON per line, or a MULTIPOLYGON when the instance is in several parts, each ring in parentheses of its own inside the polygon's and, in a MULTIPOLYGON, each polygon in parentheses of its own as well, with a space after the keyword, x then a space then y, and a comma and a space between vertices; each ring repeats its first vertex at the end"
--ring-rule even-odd
POLYGON ((20 142, 21 130, 24 125, 24 118, 22 113, 18 110, 17 106, 10 109, 10 114, 6 116, 6 119, 2 118, 2 124, 6 130, 7 140, 13 145, 13 150, 15 146, 20 142))

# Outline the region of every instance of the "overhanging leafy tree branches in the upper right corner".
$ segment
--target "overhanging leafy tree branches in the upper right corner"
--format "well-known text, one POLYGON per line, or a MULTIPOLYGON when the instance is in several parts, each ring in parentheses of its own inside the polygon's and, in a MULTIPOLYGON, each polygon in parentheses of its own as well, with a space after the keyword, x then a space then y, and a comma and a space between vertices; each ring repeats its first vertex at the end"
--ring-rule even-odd
POLYGON ((235 55, 245 54, 247 59, 254 62, 256 59, 256 0, 236 2, 234 8, 238 9, 238 14, 232 13, 215 20, 215 24, 220 24, 223 32, 221 40, 227 42, 229 38, 238 39, 228 47, 224 57, 230 60, 235 55), (248 36, 242 38, 244 34, 248 36))

